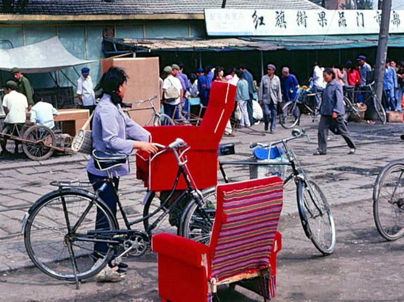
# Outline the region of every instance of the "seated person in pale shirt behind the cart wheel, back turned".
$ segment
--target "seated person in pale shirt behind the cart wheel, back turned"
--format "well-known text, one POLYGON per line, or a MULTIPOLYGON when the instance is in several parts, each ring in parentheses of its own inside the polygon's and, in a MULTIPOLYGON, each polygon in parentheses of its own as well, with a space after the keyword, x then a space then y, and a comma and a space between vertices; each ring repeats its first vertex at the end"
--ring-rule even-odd
POLYGON ((32 96, 35 105, 31 108, 31 116, 29 121, 33 125, 43 125, 50 129, 55 127, 54 118, 59 115, 59 112, 52 106, 52 104, 43 101, 43 98, 34 94, 32 96))

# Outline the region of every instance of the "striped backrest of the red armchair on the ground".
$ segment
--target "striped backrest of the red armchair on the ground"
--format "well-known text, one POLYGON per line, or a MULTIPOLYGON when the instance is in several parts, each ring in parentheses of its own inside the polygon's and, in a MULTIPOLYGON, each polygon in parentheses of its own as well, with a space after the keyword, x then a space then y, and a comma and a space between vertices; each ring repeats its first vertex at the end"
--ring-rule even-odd
POLYGON ((217 186, 217 211, 210 241, 210 276, 218 282, 269 267, 280 212, 279 177, 217 186))

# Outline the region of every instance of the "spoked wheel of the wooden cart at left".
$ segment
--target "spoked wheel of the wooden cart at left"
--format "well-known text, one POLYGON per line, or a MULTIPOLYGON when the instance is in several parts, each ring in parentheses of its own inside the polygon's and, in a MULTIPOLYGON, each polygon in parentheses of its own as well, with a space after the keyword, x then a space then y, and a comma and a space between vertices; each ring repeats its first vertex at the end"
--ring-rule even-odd
POLYGON ((32 160, 44 160, 49 158, 53 151, 49 146, 56 145, 55 134, 51 129, 42 125, 29 127, 24 132, 24 140, 31 142, 23 142, 23 150, 32 160))

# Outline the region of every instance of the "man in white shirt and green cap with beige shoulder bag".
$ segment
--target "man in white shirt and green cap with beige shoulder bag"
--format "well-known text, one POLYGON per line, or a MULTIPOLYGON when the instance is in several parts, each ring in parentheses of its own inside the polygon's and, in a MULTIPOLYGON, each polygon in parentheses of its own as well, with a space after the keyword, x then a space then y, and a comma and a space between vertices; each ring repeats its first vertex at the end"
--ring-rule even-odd
POLYGON ((173 76, 173 69, 171 66, 164 67, 163 71, 167 75, 163 82, 164 113, 169 117, 179 119, 178 105, 181 102, 184 94, 182 85, 179 79, 173 76), (173 89, 177 90, 178 98, 167 98, 167 92, 171 92, 173 89))

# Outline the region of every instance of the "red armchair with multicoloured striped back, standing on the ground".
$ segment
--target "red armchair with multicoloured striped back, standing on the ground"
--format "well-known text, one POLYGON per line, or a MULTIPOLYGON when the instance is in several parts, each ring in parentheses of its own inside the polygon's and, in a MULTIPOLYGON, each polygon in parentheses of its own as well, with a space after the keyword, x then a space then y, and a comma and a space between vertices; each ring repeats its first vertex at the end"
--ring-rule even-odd
POLYGON ((209 246, 167 233, 153 236, 159 296, 206 302, 218 285, 230 283, 261 294, 265 301, 273 298, 276 254, 282 248, 277 231, 282 198, 279 177, 218 185, 209 246))

